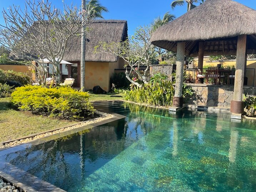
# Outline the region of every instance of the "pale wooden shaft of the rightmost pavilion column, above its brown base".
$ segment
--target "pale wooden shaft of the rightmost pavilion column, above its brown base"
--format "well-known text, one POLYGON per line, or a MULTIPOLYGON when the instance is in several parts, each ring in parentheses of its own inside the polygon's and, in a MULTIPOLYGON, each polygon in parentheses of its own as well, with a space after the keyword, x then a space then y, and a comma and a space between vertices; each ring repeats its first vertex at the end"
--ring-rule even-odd
POLYGON ((246 35, 240 35, 237 39, 236 73, 234 86, 234 101, 243 100, 244 70, 246 60, 246 35))

